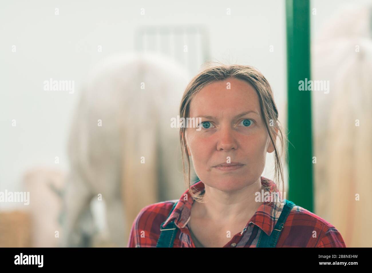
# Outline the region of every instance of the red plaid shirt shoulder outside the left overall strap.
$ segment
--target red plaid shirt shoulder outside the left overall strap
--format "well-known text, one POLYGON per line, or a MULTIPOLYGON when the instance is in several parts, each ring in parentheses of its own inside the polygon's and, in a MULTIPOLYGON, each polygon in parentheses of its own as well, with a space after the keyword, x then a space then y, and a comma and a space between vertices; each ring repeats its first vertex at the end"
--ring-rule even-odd
POLYGON ((160 225, 177 200, 163 201, 142 208, 134 219, 127 247, 156 247, 160 225))

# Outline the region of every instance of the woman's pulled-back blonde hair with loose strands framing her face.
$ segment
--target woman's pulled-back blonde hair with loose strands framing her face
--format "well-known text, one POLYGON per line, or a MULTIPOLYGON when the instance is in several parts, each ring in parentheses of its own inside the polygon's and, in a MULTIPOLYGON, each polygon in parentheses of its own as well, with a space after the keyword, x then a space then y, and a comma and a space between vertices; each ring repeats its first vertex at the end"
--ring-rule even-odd
MULTIPOLYGON (((182 100, 180 103, 180 118, 189 117, 189 105, 192 98, 206 85, 214 81, 224 80, 227 78, 237 78, 242 79, 249 84, 251 84, 257 92, 261 114, 263 117, 264 124, 266 126, 267 132, 269 133, 270 140, 273 143, 275 150, 275 175, 274 181, 281 181, 284 192, 284 176, 283 176, 283 167, 282 162, 280 161, 280 155, 278 148, 276 146, 273 136, 276 136, 276 129, 280 137, 281 151, 283 151, 283 139, 286 139, 286 136, 283 136, 282 126, 278 120, 278 108, 273 99, 273 93, 270 87, 269 82, 266 78, 259 72, 256 68, 248 65, 210 65, 207 64, 207 68, 199 72, 187 85, 185 92, 183 93, 182 100), (268 120, 272 121, 272 125, 268 125, 268 120)), ((195 188, 191 187, 190 183, 190 158, 187 152, 186 139, 185 139, 185 126, 180 128, 180 142, 182 148, 182 165, 183 165, 183 175, 185 179, 186 186, 189 188, 190 195, 193 199, 198 202, 205 202, 203 198, 203 192, 197 193, 195 188), (187 175, 185 172, 185 157, 186 153, 188 171, 187 175)))

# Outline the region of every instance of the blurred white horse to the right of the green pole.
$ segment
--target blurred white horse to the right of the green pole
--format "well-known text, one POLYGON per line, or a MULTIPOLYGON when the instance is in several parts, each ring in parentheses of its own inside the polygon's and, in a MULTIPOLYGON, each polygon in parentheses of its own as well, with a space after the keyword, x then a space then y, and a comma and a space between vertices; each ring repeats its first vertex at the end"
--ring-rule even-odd
POLYGON ((360 232, 372 224, 371 18, 371 6, 340 8, 312 48, 312 77, 330 82, 329 94, 312 91, 316 211, 347 247, 372 244, 360 232))

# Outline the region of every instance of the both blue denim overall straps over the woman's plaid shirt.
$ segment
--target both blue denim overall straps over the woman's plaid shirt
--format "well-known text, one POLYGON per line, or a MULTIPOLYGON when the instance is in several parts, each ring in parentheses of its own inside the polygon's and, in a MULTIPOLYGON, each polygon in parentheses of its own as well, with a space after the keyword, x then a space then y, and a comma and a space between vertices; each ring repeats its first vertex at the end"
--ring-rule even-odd
MULTIPOLYGON (((173 209, 176 207, 177 202, 174 203, 173 208, 170 210, 168 217, 172 213, 173 209)), ((276 222, 276 225, 272 233, 270 234, 270 236, 268 236, 266 233, 262 231, 256 247, 276 246, 280 231, 282 231, 283 225, 289 215, 289 212, 291 212, 291 209, 294 206, 295 204, 292 201, 285 199, 285 205, 283 207, 282 213, 280 214, 278 222, 276 222)), ((176 238, 176 234, 179 228, 177 228, 176 224, 174 224, 174 220, 169 222, 169 224, 163 228, 164 223, 165 221, 160 225, 160 236, 157 241, 156 247, 173 247, 174 238, 176 238)))

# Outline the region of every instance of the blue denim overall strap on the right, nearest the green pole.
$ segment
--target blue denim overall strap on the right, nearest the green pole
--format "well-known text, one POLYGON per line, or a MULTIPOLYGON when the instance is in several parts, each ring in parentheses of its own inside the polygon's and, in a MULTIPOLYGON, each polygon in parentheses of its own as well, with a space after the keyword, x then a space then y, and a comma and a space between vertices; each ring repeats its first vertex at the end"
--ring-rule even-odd
POLYGON ((258 240, 257 247, 275 247, 276 243, 278 242, 280 231, 283 229, 283 225, 291 212, 291 209, 295 206, 294 202, 285 199, 285 205, 283 207, 282 212, 280 213, 278 222, 270 234, 268 236, 263 230, 261 231, 261 236, 258 240))

